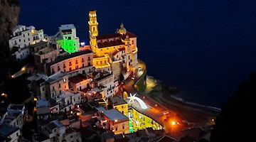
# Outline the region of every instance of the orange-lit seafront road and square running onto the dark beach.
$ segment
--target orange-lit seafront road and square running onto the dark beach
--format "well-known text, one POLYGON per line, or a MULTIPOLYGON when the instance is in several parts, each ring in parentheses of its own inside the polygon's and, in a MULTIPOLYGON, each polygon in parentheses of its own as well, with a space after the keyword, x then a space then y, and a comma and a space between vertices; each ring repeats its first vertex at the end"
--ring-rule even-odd
POLYGON ((156 95, 155 98, 152 99, 146 96, 146 94, 137 91, 137 89, 134 88, 134 84, 146 73, 146 65, 144 62, 139 61, 138 65, 142 67, 142 70, 136 72, 134 80, 132 80, 131 77, 127 78, 123 89, 128 94, 137 93, 137 97, 144 100, 144 102, 150 106, 148 110, 139 109, 139 107, 136 109, 158 121, 159 124, 164 126, 166 133, 190 129, 191 124, 193 124, 193 126, 206 126, 212 119, 215 119, 218 112, 186 104, 171 97, 163 97, 163 95, 156 95), (164 111, 169 111, 169 114, 163 114, 164 111), (173 123, 178 123, 179 125, 177 126, 173 123))

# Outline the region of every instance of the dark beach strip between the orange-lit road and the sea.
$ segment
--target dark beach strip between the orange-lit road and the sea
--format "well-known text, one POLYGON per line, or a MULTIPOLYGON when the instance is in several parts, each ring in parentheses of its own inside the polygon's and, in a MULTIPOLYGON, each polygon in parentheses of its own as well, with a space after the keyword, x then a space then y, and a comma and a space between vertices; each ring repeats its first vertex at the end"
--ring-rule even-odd
MULTIPOLYGON (((147 77, 147 79, 153 80, 156 84, 150 88, 147 87, 149 90, 145 92, 146 96, 176 112, 176 114, 181 116, 187 123, 208 126, 213 124, 216 116, 220 113, 220 108, 188 102, 184 98, 176 97, 175 94, 171 94, 168 90, 163 88, 165 85, 161 84, 161 80, 156 80, 152 76, 147 77), (156 85, 158 86, 157 88, 156 85)), ((147 82, 150 80, 147 80, 147 82)))

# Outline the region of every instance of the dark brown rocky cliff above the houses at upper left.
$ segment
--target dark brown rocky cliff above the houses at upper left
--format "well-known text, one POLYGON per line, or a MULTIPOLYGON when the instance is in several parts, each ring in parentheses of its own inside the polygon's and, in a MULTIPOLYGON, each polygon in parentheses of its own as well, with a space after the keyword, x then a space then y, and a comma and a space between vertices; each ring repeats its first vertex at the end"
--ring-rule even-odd
POLYGON ((0 0, 0 85, 8 77, 11 64, 8 40, 18 23, 20 6, 18 0, 0 0))

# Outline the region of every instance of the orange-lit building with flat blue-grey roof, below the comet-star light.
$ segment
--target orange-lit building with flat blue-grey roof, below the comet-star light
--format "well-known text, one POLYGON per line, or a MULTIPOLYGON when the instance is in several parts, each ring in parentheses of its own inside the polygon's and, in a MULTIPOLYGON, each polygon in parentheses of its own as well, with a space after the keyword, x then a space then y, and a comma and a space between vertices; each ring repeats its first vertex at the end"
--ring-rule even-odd
POLYGON ((129 133, 129 119, 117 109, 106 110, 96 107, 100 115, 100 128, 110 130, 114 134, 129 133))

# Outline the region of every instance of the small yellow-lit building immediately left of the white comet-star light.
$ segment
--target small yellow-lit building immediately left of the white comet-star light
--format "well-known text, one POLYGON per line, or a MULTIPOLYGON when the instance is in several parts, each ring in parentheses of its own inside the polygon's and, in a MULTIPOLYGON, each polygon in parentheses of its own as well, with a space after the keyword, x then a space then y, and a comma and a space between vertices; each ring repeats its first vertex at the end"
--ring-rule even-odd
POLYGON ((125 116, 128 116, 128 103, 122 97, 114 96, 111 98, 114 109, 117 109, 125 116))

